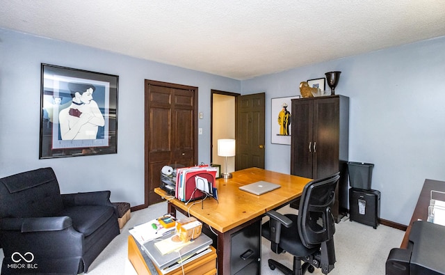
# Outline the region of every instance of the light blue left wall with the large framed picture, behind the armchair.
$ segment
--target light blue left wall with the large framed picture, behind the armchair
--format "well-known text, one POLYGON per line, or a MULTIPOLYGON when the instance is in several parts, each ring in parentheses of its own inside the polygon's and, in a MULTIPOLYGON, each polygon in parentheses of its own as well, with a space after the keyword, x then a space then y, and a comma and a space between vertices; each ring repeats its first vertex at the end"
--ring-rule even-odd
POLYGON ((144 203, 144 79, 197 86, 198 161, 210 161, 210 91, 239 93, 238 80, 0 29, 0 178, 51 166, 62 193, 111 190, 112 201, 144 203), (118 154, 38 159, 40 63, 117 74, 118 154))

